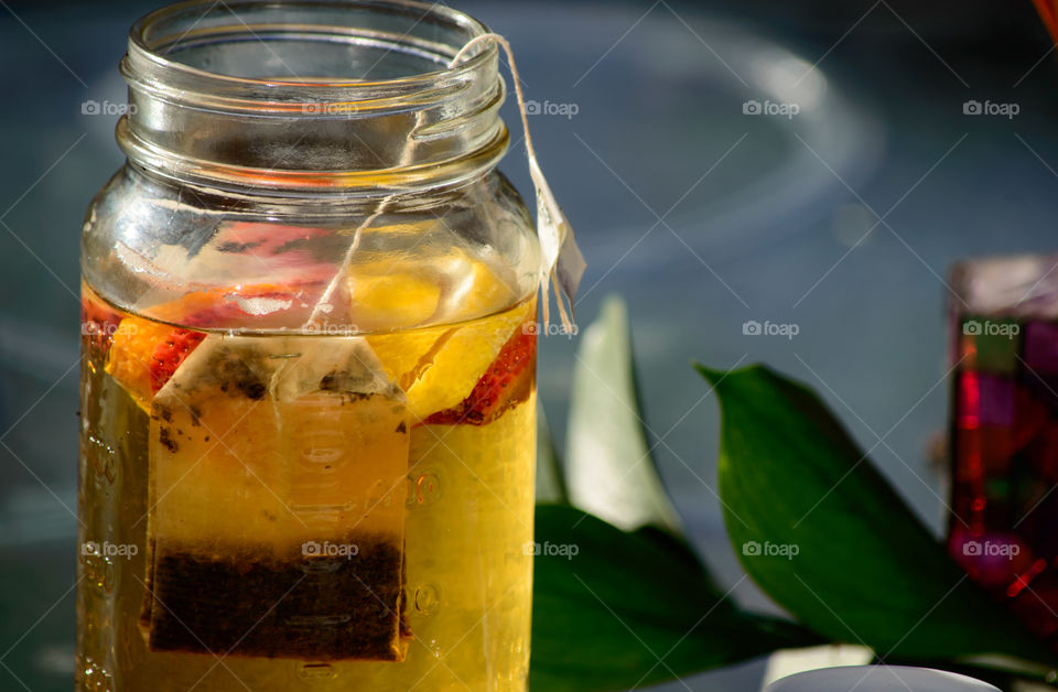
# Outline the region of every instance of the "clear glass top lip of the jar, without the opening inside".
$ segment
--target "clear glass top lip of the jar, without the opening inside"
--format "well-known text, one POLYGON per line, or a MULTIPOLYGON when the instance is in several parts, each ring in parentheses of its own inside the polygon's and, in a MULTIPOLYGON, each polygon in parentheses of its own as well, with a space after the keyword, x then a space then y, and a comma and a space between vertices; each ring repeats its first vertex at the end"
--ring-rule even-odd
MULTIPOLYGON (((396 47, 396 42, 407 42, 408 45, 417 47, 420 55, 425 57, 425 52, 432 50, 434 58, 452 58, 471 40, 489 33, 489 29, 481 21, 460 10, 454 10, 440 3, 421 2, 420 0, 279 0, 278 2, 262 3, 255 0, 229 0, 228 2, 217 3, 214 0, 184 0, 158 10, 154 10, 140 18, 129 32, 129 52, 122 61, 121 69, 130 85, 147 88, 148 90, 161 90, 164 85, 161 82, 179 86, 181 100, 184 102, 196 101, 202 97, 203 106, 228 107, 235 110, 248 108, 250 110, 260 110, 262 101, 268 106, 279 110, 289 111, 293 109, 282 108, 282 104, 296 104, 299 107, 304 102, 331 102, 331 104, 363 104, 370 101, 370 110, 386 109, 397 102, 408 104, 409 98, 428 91, 436 93, 440 88, 453 82, 462 82, 468 75, 479 71, 489 62, 497 60, 498 50, 492 42, 486 42, 482 48, 473 55, 461 61, 458 65, 450 67, 444 65, 438 69, 417 72, 414 74, 402 75, 389 78, 358 79, 355 77, 250 77, 225 74, 196 67, 179 58, 170 56, 173 48, 185 43, 188 37, 199 41, 213 41, 215 43, 225 43, 234 41, 246 41, 247 37, 263 41, 255 32, 251 24, 244 22, 239 15, 239 9, 260 10, 268 9, 298 9, 304 11, 312 10, 334 10, 341 12, 352 12, 354 10, 390 12, 390 13, 412 13, 417 17, 412 25, 399 35, 389 35, 382 39, 390 42, 390 47, 386 53, 396 47), (227 25, 222 28, 199 29, 199 22, 207 14, 215 10, 226 10, 238 20, 238 25, 227 25), (153 36, 153 32, 165 31, 166 25, 179 23, 182 19, 195 19, 191 28, 186 29, 173 40, 172 33, 161 33, 153 36), (444 23, 446 28, 462 31, 465 41, 460 43, 452 42, 425 42, 417 41, 411 32, 425 20, 436 23, 444 23), (213 34, 212 36, 209 34, 213 34), (244 34, 239 37, 239 34, 244 34), (151 78, 149 73, 164 71, 164 80, 151 78), (262 96, 267 95, 267 98, 262 96), (250 106, 257 104, 257 107, 250 106), (241 106, 241 108, 240 108, 241 106)), ((276 31, 285 24, 257 25, 276 31)), ((313 30, 321 35, 327 35, 328 41, 345 40, 353 42, 357 37, 363 37, 360 28, 355 25, 334 25, 334 24, 309 24, 290 26, 287 31, 298 29, 301 31, 313 30)), ((316 39, 320 40, 320 39, 316 39)), ((182 47, 187 47, 182 45, 182 47)), ((438 61, 439 64, 440 61, 438 61)), ((360 110, 357 107, 356 110, 360 110)), ((304 110, 304 109, 302 109, 304 110)), ((310 113, 311 115, 311 111, 310 113)))

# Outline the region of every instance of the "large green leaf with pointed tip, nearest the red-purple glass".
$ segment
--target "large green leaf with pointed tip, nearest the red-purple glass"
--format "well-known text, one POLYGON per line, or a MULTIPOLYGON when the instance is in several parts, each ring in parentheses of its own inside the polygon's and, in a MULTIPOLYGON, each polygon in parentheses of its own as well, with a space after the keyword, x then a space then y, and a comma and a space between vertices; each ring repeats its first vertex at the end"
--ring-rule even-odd
POLYGON ((759 366, 699 370, 720 397, 727 533, 801 624, 883 658, 1054 660, 948 558, 809 389, 759 366), (797 554, 747 554, 754 544, 797 554))

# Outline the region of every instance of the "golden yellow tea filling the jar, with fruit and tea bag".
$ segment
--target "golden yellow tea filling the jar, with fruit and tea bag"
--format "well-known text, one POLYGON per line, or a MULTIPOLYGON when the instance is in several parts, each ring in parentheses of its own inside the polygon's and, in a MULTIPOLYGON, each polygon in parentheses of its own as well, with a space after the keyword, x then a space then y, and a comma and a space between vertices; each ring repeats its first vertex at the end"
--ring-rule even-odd
POLYGON ((188 317, 229 303, 84 289, 77 689, 525 690, 536 301, 366 335, 188 317))

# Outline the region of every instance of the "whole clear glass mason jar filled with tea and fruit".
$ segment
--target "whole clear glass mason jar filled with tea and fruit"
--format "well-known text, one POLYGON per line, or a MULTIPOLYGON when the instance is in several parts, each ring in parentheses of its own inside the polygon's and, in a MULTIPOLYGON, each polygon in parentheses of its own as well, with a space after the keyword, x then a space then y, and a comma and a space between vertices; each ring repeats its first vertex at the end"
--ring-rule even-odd
POLYGON ((486 29, 184 2, 82 238, 78 690, 525 690, 536 294, 486 29))

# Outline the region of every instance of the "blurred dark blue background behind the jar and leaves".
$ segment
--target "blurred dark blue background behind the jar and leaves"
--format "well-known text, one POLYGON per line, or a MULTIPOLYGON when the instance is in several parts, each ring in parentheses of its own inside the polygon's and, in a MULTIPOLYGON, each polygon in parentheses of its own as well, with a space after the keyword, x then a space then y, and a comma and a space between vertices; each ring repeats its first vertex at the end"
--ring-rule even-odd
MULTIPOLYGON (((0 1, 0 664, 34 692, 73 674, 78 231, 122 162, 116 116, 83 104, 123 102, 117 63, 153 7, 0 1)), ((864 446, 885 437, 874 459, 940 531, 943 277, 1058 245, 1058 63, 1028 1, 458 7, 511 40, 542 105, 536 145, 590 261, 579 317, 628 301, 665 482, 722 580, 741 571, 704 487, 716 407, 691 359, 819 389, 864 446), (751 320, 798 334, 744 335, 751 320)), ((520 148, 504 169, 531 190, 520 148)), ((552 338, 541 361, 560 439, 573 347, 552 338)), ((687 689, 755 689, 762 671, 687 689)))

